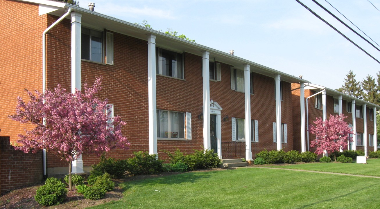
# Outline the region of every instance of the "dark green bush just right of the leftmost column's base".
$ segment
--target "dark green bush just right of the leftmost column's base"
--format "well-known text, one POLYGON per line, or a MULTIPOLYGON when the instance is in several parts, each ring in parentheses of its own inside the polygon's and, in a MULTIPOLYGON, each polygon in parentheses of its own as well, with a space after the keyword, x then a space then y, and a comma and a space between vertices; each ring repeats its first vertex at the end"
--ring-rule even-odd
POLYGON ((112 179, 119 179, 124 177, 126 171, 127 160, 116 160, 115 158, 106 158, 105 155, 101 155, 100 162, 92 166, 90 174, 93 176, 101 176, 105 173, 109 173, 112 179))

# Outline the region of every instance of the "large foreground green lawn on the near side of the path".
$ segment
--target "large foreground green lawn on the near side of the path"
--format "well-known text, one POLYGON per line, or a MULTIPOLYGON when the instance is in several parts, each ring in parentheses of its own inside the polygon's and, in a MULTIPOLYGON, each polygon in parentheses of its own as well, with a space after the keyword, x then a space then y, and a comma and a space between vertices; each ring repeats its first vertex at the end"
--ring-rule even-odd
POLYGON ((126 182, 120 201, 91 208, 377 209, 379 186, 370 177, 248 167, 126 182))

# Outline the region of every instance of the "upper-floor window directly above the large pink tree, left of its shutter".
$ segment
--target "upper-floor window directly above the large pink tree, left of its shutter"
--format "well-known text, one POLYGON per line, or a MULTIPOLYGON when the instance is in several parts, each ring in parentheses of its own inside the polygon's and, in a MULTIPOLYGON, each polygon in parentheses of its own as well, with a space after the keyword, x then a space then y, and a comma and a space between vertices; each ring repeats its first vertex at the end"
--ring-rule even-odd
POLYGON ((82 28, 81 58, 94 62, 103 62, 103 32, 82 28))

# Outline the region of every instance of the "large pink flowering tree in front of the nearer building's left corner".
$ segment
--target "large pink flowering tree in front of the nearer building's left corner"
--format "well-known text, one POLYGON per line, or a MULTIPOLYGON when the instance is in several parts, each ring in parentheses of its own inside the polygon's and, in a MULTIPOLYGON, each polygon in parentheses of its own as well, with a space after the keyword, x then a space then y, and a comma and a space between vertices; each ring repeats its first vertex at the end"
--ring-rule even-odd
POLYGON ((108 152, 119 147, 129 149, 130 143, 122 135, 125 122, 119 116, 111 118, 111 106, 107 99, 101 101, 95 94, 101 89, 101 78, 92 87, 84 84, 84 91, 75 93, 63 89, 60 84, 54 90, 35 95, 25 89, 30 101, 17 98, 16 114, 9 116, 20 123, 35 127, 19 134, 14 147, 25 153, 36 153, 46 149, 49 153, 65 160, 69 166, 69 189, 71 163, 82 154, 108 152))

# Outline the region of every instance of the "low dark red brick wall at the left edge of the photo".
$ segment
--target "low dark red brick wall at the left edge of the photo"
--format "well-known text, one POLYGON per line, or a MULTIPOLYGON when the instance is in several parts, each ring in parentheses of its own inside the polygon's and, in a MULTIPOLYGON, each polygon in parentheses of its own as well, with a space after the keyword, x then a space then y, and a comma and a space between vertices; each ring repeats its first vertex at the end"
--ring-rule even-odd
POLYGON ((15 150, 9 137, 0 136, 0 193, 42 180, 42 152, 15 150))

